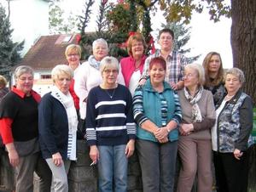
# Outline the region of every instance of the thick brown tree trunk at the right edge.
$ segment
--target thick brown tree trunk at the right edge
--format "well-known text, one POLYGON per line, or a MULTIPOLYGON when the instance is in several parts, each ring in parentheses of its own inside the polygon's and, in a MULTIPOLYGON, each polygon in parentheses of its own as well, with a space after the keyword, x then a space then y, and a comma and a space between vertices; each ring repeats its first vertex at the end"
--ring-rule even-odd
POLYGON ((256 1, 231 0, 231 46, 234 66, 244 71, 244 91, 256 105, 256 1))

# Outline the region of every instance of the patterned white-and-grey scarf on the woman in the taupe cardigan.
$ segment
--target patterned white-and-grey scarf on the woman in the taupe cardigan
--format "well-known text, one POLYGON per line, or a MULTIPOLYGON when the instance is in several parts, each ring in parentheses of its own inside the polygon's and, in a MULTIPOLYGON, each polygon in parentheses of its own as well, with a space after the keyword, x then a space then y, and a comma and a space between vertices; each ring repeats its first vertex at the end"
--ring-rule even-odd
POLYGON ((184 88, 184 94, 186 99, 189 100, 189 103, 192 104, 192 121, 193 122, 201 122, 201 110, 198 106, 198 101, 201 99, 201 94, 203 92, 203 87, 201 86, 198 92, 195 94, 195 97, 192 97, 187 88, 184 88))

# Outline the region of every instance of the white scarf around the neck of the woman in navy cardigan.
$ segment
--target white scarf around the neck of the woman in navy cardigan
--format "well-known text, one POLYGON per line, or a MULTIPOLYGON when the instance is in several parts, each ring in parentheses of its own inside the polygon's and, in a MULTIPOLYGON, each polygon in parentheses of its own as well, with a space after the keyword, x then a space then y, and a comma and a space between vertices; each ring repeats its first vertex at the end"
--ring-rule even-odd
POLYGON ((68 133, 73 134, 78 129, 78 116, 77 111, 73 104, 73 98, 71 94, 68 92, 67 95, 62 93, 59 88, 53 86, 51 95, 58 99, 61 104, 63 104, 66 112, 67 112, 67 121, 68 121, 68 133))

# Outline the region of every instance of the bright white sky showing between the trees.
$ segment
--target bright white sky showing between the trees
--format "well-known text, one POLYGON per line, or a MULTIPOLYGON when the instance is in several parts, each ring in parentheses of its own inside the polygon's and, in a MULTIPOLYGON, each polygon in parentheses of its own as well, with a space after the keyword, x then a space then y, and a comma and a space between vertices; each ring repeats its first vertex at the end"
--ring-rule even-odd
MULTIPOLYGON (((99 2, 99 0, 96 2, 99 2)), ((80 14, 81 9, 84 8, 84 0, 76 0, 75 4, 73 0, 64 0, 63 8, 66 10, 66 13, 72 11, 73 14, 80 14)), ((93 13, 98 12, 97 3, 94 4, 93 10, 93 13)), ((90 24, 87 28, 88 31, 95 31, 96 15, 91 15, 90 24)), ((158 31, 161 29, 161 22, 159 21, 164 20, 164 17, 161 12, 151 16, 151 22, 153 23, 152 35, 156 42, 158 31)), ((185 47, 191 48, 191 53, 188 56, 201 54, 201 57, 196 61, 196 63, 201 64, 207 53, 215 51, 221 55, 224 68, 232 67, 233 59, 230 45, 231 19, 222 17, 219 22, 214 23, 210 20, 210 15, 205 11, 202 14, 194 13, 189 26, 191 26, 191 37, 185 47)), ((157 42, 155 44, 158 47, 157 42)))

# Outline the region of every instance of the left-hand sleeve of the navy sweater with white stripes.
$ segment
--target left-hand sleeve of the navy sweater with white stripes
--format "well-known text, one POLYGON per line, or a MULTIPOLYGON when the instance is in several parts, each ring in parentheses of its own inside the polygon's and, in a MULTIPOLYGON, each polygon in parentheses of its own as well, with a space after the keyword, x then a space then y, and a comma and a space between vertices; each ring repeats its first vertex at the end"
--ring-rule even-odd
POLYGON ((95 89, 91 89, 86 107, 86 139, 88 145, 96 145, 96 96, 95 89))

